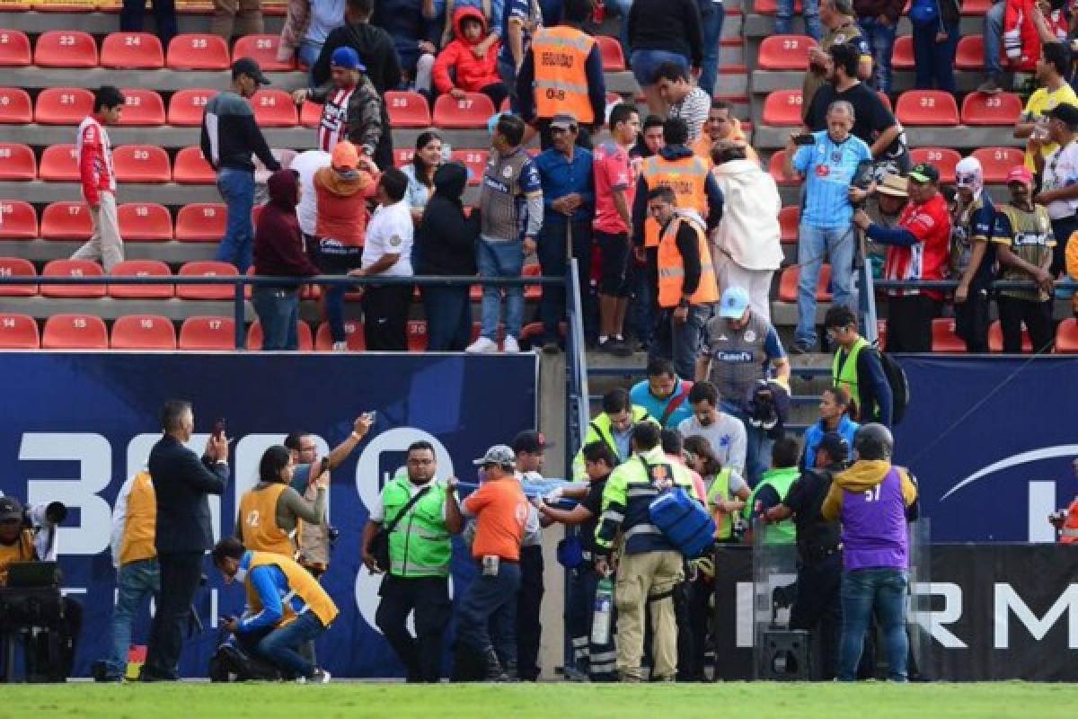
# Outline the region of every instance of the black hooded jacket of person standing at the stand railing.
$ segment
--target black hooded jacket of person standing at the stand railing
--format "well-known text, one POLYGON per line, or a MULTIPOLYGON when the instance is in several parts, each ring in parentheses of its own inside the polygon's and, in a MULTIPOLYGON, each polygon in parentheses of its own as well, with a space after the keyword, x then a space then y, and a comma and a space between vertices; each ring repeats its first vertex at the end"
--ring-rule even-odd
POLYGON ((434 172, 434 194, 423 210, 416 232, 416 272, 419 275, 474 275, 479 211, 465 217, 460 204, 468 170, 446 163, 434 172))

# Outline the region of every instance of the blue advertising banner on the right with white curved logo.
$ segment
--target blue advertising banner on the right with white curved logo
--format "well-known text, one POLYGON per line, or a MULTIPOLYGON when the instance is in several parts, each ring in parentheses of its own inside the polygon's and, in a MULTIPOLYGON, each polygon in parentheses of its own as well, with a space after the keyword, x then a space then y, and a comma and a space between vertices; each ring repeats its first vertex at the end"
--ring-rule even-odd
POLYGON ((1078 494, 1078 359, 900 358, 910 407, 895 461, 921 483, 932 540, 1053 541, 1078 494))

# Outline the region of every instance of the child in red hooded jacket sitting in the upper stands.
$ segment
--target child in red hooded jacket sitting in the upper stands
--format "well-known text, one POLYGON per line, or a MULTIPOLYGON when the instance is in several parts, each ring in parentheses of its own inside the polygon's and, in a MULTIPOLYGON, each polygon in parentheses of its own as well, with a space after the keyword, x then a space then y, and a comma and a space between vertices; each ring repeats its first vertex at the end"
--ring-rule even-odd
POLYGON ((476 45, 487 37, 486 18, 476 8, 459 8, 453 15, 453 27, 456 40, 434 60, 434 87, 457 99, 464 98, 465 93, 483 93, 497 109, 509 94, 498 77, 500 45, 496 41, 481 57, 475 54, 476 45))

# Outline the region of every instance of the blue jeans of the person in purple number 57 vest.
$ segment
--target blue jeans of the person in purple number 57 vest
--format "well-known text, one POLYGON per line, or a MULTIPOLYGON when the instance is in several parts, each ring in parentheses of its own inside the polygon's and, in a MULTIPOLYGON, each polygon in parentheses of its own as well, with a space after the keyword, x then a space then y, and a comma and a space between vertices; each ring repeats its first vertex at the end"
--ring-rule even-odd
POLYGON ((906 587, 902 569, 855 569, 842 572, 842 639, 839 681, 857 679, 865 633, 875 613, 887 652, 887 678, 907 680, 910 640, 906 635, 906 587))

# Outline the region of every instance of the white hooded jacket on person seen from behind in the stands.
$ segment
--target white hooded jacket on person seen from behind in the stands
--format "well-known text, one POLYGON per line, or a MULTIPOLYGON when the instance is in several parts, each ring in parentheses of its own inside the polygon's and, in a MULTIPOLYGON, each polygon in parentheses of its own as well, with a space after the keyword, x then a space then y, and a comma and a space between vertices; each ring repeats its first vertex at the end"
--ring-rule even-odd
POLYGON ((745 269, 778 269, 783 263, 778 232, 783 201, 774 178, 748 160, 722 163, 714 175, 722 191, 722 220, 715 231, 716 249, 745 269))

